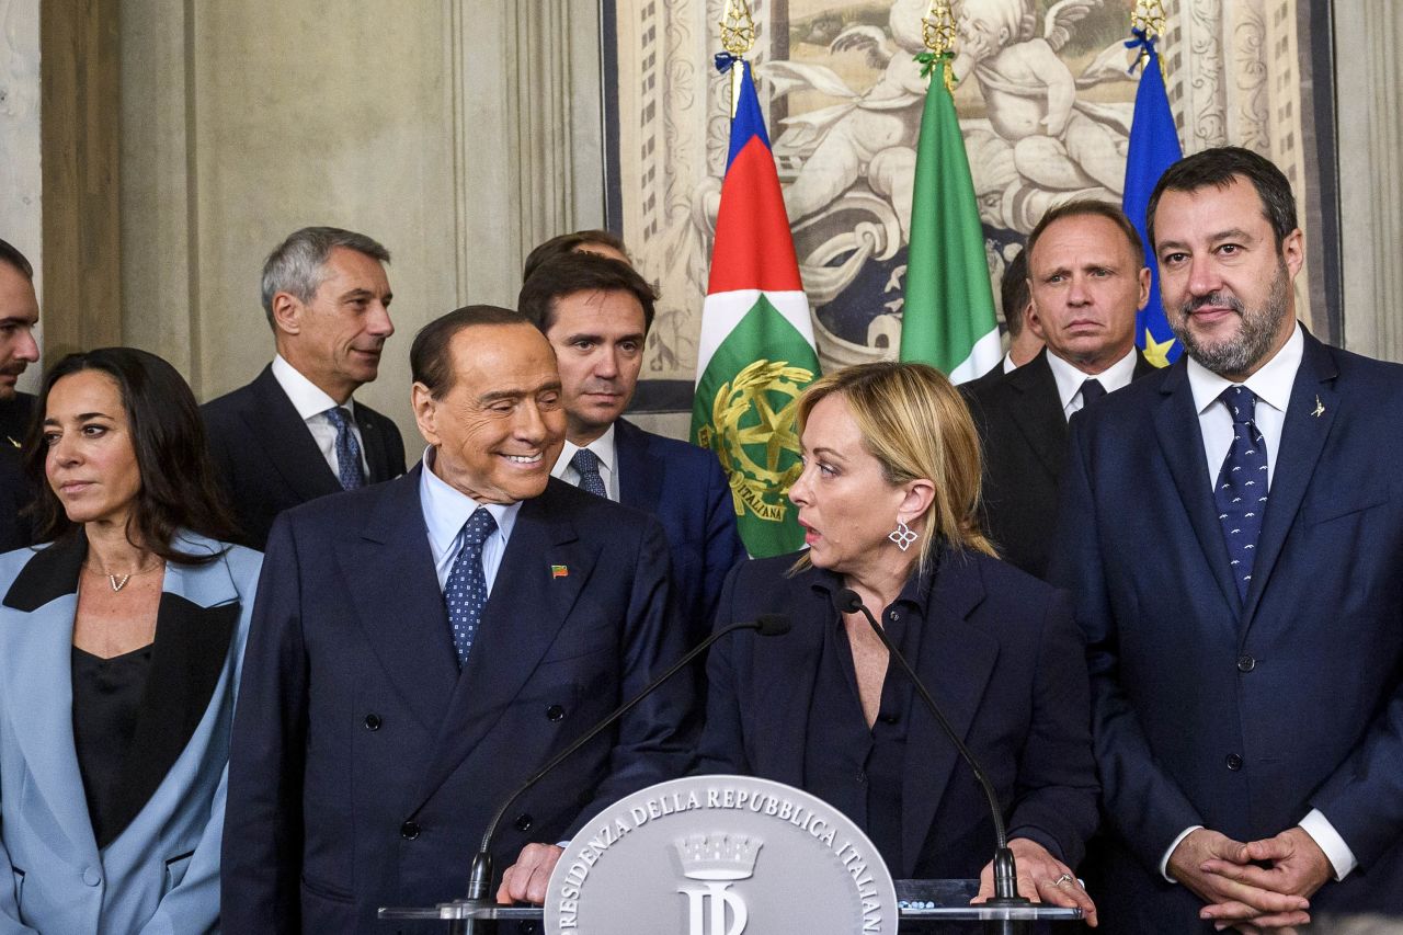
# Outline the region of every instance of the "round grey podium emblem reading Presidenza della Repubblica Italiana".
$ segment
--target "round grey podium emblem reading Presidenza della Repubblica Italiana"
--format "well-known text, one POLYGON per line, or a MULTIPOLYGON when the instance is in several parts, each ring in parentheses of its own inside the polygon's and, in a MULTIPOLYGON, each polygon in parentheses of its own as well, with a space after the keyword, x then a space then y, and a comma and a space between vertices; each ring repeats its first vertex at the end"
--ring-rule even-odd
POLYGON ((877 848, 826 802, 769 779, 690 776, 588 821, 551 875, 547 935, 895 935, 877 848))

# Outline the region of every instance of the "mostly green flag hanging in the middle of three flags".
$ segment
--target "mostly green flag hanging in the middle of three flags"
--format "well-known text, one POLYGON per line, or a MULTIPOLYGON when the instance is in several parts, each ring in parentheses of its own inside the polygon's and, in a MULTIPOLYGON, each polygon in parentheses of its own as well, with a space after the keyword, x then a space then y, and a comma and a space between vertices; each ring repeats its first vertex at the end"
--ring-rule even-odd
POLYGON ((901 359, 930 364, 962 383, 998 364, 1003 347, 947 67, 946 58, 934 59, 920 117, 901 359))

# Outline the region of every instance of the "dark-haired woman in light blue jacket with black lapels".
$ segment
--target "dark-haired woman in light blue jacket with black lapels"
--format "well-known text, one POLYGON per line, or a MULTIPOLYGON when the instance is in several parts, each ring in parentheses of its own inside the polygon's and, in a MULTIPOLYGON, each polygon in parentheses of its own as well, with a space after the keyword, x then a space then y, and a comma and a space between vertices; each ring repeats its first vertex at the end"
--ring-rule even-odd
POLYGON ((166 361, 69 355, 35 411, 52 542, 0 556, 0 935, 216 931, 262 559, 223 542, 199 410, 166 361))

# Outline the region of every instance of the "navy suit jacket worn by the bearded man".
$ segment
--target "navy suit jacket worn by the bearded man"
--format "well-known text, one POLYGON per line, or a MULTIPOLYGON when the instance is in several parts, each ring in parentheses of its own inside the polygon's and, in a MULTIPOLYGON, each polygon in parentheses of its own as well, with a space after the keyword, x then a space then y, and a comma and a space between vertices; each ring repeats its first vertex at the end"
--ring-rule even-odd
MULTIPOLYGON (((1320 809, 1360 861, 1312 913, 1403 911, 1403 368, 1306 336, 1239 608, 1186 361, 1075 420, 1054 583, 1087 636, 1118 932, 1201 931, 1159 862, 1320 809)), ((1202 929, 1211 931, 1211 929, 1202 929)))

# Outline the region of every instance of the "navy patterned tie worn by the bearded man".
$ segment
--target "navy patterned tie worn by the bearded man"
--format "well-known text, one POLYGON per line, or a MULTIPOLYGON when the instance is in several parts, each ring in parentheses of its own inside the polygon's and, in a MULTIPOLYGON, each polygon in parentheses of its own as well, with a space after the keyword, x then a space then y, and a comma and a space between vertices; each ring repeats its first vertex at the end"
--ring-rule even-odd
POLYGON ((1223 524, 1223 542, 1228 543, 1237 595, 1246 601, 1261 517, 1267 511, 1267 442, 1253 421, 1257 397, 1250 389, 1229 386, 1218 399, 1232 413, 1233 438, 1218 472, 1214 500, 1218 519, 1223 524))

